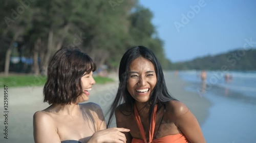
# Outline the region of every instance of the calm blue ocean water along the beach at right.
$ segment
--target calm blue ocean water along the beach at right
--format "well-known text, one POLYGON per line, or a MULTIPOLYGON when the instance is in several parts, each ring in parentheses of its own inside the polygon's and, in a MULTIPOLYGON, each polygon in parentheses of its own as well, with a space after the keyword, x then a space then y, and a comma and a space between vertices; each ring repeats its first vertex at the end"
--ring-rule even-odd
POLYGON ((256 71, 179 71, 179 77, 191 84, 185 88, 212 103, 209 117, 201 126, 208 143, 256 142, 256 71))

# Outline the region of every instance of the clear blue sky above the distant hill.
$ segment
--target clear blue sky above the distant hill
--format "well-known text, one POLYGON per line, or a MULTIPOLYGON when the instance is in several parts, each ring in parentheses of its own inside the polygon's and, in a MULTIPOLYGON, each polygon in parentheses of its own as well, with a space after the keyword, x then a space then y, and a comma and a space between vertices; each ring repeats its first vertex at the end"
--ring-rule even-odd
POLYGON ((139 0, 139 3, 153 12, 152 22, 164 41, 166 57, 172 62, 244 46, 246 50, 256 47, 254 0, 139 0))

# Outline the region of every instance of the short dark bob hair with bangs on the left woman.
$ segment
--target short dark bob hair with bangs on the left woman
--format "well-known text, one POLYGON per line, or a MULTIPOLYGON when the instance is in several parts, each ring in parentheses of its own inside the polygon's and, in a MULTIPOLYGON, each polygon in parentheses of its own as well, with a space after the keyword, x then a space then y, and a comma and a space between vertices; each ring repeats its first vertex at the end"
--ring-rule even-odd
POLYGON ((61 105, 75 103, 83 92, 81 77, 95 70, 93 60, 79 48, 59 49, 48 65, 44 102, 61 105))

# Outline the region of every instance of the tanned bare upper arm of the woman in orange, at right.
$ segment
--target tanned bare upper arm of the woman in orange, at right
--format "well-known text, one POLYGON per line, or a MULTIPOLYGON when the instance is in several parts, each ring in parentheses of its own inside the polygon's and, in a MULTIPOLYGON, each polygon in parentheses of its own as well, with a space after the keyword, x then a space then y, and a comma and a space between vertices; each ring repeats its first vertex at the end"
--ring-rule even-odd
POLYGON ((176 115, 175 125, 190 143, 206 142, 196 117, 185 104, 177 102, 174 105, 174 113, 176 115))

